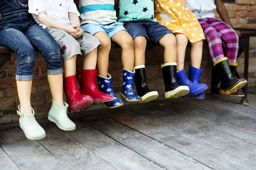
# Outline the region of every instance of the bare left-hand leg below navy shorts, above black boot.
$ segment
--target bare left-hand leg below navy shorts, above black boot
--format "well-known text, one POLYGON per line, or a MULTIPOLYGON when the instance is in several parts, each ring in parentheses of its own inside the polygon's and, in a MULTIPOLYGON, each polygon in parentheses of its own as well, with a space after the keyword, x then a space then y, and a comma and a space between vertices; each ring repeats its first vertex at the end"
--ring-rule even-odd
POLYGON ((147 39, 143 36, 134 39, 134 66, 145 65, 145 51, 147 47, 147 39))

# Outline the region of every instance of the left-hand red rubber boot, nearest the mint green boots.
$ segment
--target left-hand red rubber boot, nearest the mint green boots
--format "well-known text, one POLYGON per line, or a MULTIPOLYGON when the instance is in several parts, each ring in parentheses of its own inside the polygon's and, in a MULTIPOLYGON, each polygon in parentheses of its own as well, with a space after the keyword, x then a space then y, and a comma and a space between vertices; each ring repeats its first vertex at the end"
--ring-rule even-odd
POLYGON ((64 79, 64 92, 67 97, 68 111, 74 114, 81 108, 86 108, 93 104, 93 98, 88 95, 82 95, 77 88, 76 76, 70 76, 64 79))

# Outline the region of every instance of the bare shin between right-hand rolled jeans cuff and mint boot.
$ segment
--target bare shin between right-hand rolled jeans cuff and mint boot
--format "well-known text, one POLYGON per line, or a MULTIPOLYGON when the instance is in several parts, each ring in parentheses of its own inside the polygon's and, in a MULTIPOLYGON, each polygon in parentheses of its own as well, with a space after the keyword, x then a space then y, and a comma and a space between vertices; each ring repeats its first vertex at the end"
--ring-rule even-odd
POLYGON ((63 74, 47 74, 47 78, 52 93, 52 99, 54 102, 63 106, 63 74))

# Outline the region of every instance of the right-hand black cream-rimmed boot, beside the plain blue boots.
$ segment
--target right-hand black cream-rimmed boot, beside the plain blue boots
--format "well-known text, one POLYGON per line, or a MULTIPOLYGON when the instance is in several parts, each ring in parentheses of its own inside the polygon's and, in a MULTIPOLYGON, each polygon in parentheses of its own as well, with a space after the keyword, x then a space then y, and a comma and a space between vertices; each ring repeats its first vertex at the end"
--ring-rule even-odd
POLYGON ((163 81, 165 84, 165 97, 177 98, 189 94, 189 87, 186 85, 179 85, 177 82, 177 62, 167 62, 162 64, 163 81))

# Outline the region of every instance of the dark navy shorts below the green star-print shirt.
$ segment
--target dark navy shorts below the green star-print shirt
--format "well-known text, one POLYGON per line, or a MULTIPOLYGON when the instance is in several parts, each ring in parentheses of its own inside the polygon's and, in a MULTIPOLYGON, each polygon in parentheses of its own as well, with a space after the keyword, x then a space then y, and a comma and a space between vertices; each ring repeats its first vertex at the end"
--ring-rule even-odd
POLYGON ((148 45, 159 45, 158 40, 166 34, 174 34, 166 26, 149 21, 149 20, 135 20, 125 21, 124 27, 133 39, 139 36, 144 36, 147 39, 148 45))

